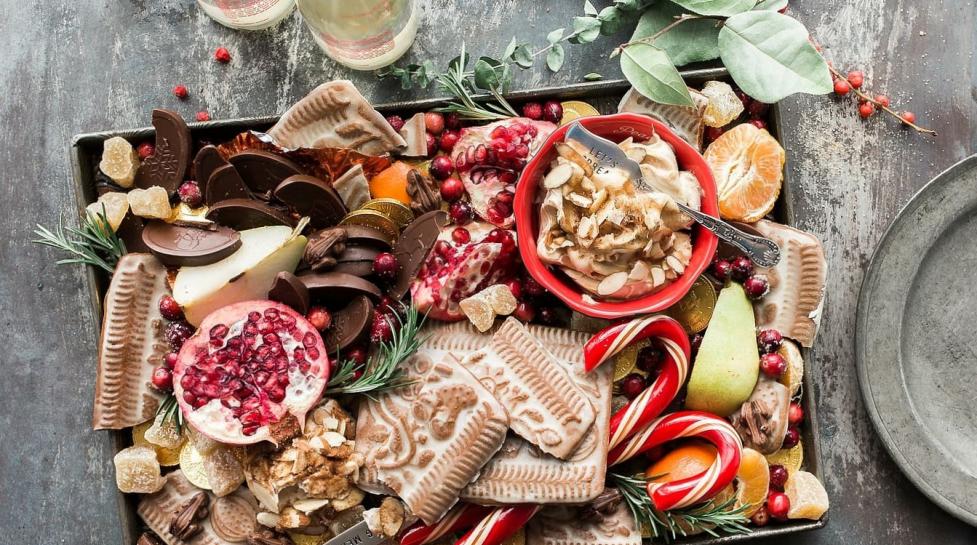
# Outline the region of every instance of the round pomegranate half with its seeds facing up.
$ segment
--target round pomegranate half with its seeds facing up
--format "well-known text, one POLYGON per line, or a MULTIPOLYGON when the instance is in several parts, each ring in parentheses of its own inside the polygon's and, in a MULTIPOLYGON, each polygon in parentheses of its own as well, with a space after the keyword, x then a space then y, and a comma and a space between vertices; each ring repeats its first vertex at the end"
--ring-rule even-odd
POLYGON ((173 393, 200 433, 234 445, 275 442, 275 425, 305 413, 329 382, 322 338, 273 301, 244 301, 207 315, 173 368, 173 393))

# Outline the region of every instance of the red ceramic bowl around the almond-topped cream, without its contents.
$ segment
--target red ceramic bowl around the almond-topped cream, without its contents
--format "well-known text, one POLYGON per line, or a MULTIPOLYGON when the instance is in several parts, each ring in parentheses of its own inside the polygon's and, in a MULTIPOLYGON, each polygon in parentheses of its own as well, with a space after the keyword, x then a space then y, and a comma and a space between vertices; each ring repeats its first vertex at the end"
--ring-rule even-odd
MULTIPOLYGON (((629 136, 636 141, 647 140, 657 133, 662 140, 671 144, 678 159, 679 168, 691 172, 702 187, 702 211, 711 216, 719 216, 719 203, 716 196, 716 182, 712 170, 702 155, 688 142, 675 135, 663 123, 650 117, 637 114, 614 114, 578 119, 585 128, 608 140, 620 142, 629 136)), ((556 157, 556 142, 562 142, 569 125, 553 132, 543 143, 540 151, 529 161, 516 186, 515 215, 516 232, 519 240, 519 253, 529 274, 559 297, 570 308, 596 318, 621 318, 633 314, 645 314, 664 310, 678 302, 696 278, 709 266, 716 253, 718 239, 701 225, 692 228, 692 260, 685 273, 663 289, 628 301, 588 302, 584 292, 567 276, 554 272, 540 261, 536 254, 536 236, 539 233, 539 183, 556 157)))

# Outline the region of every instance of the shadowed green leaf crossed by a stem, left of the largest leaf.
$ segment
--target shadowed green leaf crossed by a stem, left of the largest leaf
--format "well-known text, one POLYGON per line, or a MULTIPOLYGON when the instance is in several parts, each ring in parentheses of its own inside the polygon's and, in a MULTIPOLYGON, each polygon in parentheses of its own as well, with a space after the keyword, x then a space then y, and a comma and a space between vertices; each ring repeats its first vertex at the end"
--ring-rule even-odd
MULTIPOLYGON (((683 13, 671 2, 652 6, 638 20, 631 41, 654 36, 683 13)), ((719 26, 714 19, 690 19, 656 38, 655 46, 665 50, 675 66, 711 61, 719 58, 719 26)))

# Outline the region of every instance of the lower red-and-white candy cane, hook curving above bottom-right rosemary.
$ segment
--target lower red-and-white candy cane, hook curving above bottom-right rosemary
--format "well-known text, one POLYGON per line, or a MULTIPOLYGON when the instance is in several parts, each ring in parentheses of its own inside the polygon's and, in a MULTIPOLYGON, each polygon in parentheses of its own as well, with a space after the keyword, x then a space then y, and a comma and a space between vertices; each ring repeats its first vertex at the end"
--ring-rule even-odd
POLYGON ((648 496, 659 511, 681 509, 708 500, 733 482, 740 467, 743 443, 726 420, 702 411, 680 411, 663 416, 640 430, 607 455, 608 465, 619 464, 675 439, 697 437, 716 447, 716 459, 703 472, 685 479, 648 483, 648 496))

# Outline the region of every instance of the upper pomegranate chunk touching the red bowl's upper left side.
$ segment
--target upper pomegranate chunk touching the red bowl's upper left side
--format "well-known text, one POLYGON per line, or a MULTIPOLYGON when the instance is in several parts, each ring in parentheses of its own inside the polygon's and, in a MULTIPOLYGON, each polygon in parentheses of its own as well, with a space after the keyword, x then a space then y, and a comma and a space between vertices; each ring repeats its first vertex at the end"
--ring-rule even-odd
POLYGON ((512 227, 516 180, 554 130, 553 123, 525 117, 461 130, 451 159, 479 217, 499 227, 512 227))

